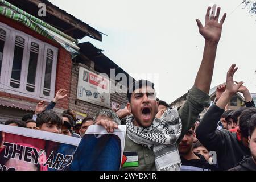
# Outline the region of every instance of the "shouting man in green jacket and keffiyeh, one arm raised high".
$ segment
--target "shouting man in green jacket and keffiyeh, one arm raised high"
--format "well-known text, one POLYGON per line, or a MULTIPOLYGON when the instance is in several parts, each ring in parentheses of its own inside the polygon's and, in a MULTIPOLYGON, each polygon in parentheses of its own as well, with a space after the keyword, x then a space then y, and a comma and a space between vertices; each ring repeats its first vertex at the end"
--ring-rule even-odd
MULTIPOLYGON (((205 39, 203 60, 197 72, 195 83, 189 90, 187 101, 179 111, 167 109, 160 119, 154 84, 147 80, 135 81, 129 86, 127 108, 133 115, 127 117, 125 152, 127 160, 123 170, 180 170, 181 160, 177 143, 196 122, 204 107, 209 107, 209 90, 212 81, 217 44, 221 37, 222 24, 226 14, 218 23, 220 7, 216 16, 209 17, 210 7, 205 16, 205 27, 196 19, 199 32, 205 39)), ((118 128, 111 121, 96 122, 107 131, 118 128)), ((189 159, 190 160, 190 159, 189 159)))

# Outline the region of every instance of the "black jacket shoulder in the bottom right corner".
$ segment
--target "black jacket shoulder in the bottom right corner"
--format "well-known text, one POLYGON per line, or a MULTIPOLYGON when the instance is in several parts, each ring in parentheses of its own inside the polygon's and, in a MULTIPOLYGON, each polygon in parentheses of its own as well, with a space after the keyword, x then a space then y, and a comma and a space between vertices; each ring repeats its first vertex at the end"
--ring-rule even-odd
POLYGON ((256 171, 256 164, 251 156, 245 156, 240 163, 229 171, 256 171))

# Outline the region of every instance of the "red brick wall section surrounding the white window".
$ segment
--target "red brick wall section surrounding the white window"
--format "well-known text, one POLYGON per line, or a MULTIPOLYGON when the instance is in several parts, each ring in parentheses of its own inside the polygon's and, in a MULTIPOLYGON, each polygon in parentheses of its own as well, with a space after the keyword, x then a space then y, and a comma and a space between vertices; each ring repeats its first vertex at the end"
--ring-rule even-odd
MULTIPOLYGON (((42 40, 52 46, 59 48, 58 58, 57 58, 57 70, 56 70, 56 84, 55 84, 55 94, 57 90, 63 88, 67 90, 68 96, 71 88, 71 68, 72 68, 72 60, 71 56, 63 47, 61 47, 58 43, 53 42, 45 38, 44 36, 30 30, 30 28, 24 26, 22 23, 16 22, 9 18, 5 18, 5 16, 0 15, 0 22, 7 24, 10 27, 15 28, 16 30, 23 31, 24 33, 33 36, 36 39, 42 40)), ((30 97, 18 96, 15 94, 0 92, 0 97, 14 98, 17 100, 25 100, 29 102, 39 102, 40 100, 36 100, 30 97)), ((61 100, 56 107, 61 109, 68 109, 69 97, 61 100)))

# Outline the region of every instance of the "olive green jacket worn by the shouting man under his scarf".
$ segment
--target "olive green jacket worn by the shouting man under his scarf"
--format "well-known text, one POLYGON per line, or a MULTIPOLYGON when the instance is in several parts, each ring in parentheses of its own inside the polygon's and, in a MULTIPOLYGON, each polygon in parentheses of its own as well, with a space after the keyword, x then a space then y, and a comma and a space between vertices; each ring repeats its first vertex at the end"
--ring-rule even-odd
MULTIPOLYGON (((182 122, 182 131, 177 144, 183 139, 184 135, 196 122, 197 117, 204 107, 209 107, 210 96, 207 93, 197 89, 193 86, 188 94, 185 104, 180 108, 179 115, 182 122)), ((121 170, 135 170, 135 171, 155 171, 155 155, 153 150, 144 147, 140 144, 134 143, 129 137, 125 139, 125 152, 138 153, 138 165, 131 167, 122 167, 121 170)))

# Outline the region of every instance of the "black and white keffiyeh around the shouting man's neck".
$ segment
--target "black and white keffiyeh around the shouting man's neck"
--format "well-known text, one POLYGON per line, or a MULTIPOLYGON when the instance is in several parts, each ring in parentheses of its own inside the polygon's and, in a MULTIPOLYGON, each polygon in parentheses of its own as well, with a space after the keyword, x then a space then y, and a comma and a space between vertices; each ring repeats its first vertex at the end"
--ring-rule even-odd
POLYGON ((177 149, 182 129, 177 109, 168 109, 147 128, 133 125, 133 116, 126 119, 127 135, 135 143, 153 149, 158 171, 179 171, 181 160, 177 149))

